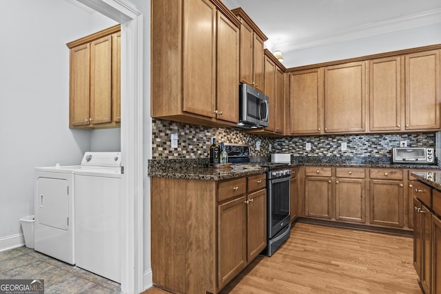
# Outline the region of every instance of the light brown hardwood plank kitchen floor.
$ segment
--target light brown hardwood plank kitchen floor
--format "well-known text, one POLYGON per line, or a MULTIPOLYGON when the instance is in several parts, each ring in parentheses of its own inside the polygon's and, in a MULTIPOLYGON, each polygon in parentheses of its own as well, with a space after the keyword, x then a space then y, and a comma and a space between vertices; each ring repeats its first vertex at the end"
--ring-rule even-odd
MULTIPOLYGON (((412 256, 409 237, 299 222, 220 293, 421 293, 412 256)), ((143 292, 159 293, 167 291, 143 292)))

